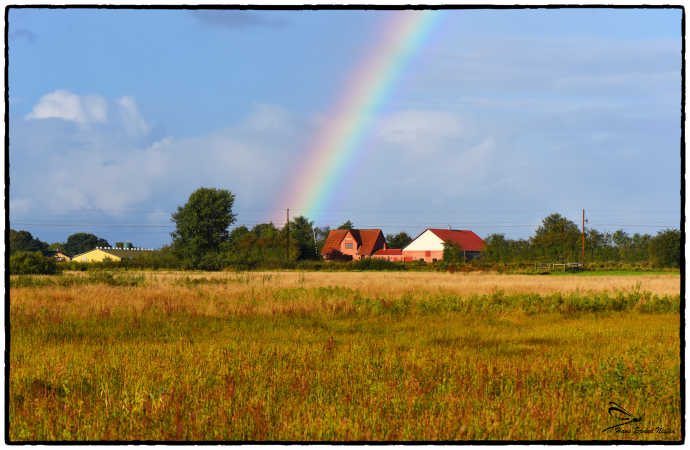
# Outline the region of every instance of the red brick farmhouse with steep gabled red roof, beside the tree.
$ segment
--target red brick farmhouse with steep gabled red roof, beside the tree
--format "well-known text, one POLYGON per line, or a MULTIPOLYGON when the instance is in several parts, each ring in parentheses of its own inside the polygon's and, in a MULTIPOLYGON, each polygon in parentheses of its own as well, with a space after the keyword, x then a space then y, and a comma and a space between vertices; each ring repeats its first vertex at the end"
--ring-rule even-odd
POLYGON ((357 260, 386 248, 386 239, 380 229, 332 230, 321 249, 326 261, 357 260))

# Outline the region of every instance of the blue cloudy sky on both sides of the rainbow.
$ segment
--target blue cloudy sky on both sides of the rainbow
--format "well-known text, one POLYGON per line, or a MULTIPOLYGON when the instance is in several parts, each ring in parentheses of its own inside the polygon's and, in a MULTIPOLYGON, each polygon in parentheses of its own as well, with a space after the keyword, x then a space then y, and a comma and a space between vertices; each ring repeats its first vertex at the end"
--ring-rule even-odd
MULTIPOLYGON (((160 247, 201 186, 270 220, 387 14, 10 10, 12 228, 160 247)), ((441 16, 317 225, 679 227, 679 9, 441 16)))

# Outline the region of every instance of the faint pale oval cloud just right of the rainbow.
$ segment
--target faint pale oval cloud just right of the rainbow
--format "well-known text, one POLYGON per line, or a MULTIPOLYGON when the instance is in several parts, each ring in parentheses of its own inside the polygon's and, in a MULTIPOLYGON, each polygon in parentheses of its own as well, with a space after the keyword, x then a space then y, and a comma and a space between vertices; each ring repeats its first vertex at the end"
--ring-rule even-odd
POLYGON ((443 111, 402 111, 384 118, 377 137, 391 144, 414 146, 428 151, 429 141, 460 137, 464 127, 460 119, 443 111))

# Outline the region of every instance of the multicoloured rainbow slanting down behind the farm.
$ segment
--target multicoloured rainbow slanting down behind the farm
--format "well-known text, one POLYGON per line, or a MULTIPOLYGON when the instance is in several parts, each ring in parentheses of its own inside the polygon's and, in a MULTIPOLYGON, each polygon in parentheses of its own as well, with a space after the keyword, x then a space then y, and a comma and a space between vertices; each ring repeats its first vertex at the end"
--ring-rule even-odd
POLYGON ((377 108, 390 96, 406 63, 437 20, 438 11, 396 11, 385 22, 376 46, 350 77, 348 86, 312 139, 301 169, 276 205, 317 222, 358 153, 358 143, 377 108))

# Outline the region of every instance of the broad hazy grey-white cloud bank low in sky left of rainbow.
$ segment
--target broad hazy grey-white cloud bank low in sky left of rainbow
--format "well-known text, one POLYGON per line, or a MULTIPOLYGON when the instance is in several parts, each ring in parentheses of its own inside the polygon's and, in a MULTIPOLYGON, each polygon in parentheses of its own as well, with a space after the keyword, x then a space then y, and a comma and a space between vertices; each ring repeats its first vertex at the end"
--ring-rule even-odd
POLYGON ((167 211, 201 186, 230 189, 242 202, 262 201, 289 175, 290 156, 299 149, 294 136, 311 132, 298 128, 287 111, 261 105, 244 121, 209 135, 143 143, 132 133, 148 129, 134 100, 123 97, 117 105, 131 119, 129 129, 22 125, 13 137, 12 196, 31 203, 17 203, 13 213, 97 209, 120 217, 133 208, 167 211), (54 142, 61 143, 59 153, 47 150, 54 142))

